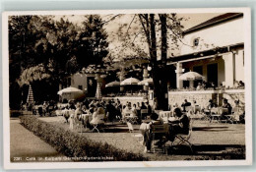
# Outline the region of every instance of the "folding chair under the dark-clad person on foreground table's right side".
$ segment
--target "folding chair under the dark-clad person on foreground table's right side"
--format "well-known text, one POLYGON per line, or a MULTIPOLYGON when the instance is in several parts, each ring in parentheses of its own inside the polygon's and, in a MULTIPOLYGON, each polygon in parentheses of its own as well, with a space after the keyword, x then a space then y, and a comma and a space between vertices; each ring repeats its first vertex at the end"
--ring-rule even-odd
POLYGON ((189 119, 189 131, 188 131, 188 134, 185 135, 185 134, 177 134, 174 138, 174 141, 171 143, 171 146, 173 145, 173 143, 175 142, 175 140, 178 140, 178 143, 177 145, 180 145, 182 143, 187 143, 191 149, 191 151, 193 152, 193 144, 189 142, 189 139, 192 135, 192 128, 193 128, 193 120, 192 119, 189 119))

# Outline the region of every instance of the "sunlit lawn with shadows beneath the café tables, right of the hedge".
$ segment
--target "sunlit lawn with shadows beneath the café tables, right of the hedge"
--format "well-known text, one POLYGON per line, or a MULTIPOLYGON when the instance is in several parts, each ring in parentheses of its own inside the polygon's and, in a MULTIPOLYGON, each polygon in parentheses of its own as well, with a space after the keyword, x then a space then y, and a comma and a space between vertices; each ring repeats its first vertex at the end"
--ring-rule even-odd
MULTIPOLYGON (((68 124, 63 123, 62 117, 43 117, 43 121, 69 128, 68 124)), ((139 125, 134 125, 135 133, 139 133, 139 125)), ((79 130, 74 130, 79 132, 79 130)), ((95 142, 109 143, 130 152, 143 152, 143 145, 134 138, 128 131, 125 124, 107 124, 104 133, 90 133, 83 131, 83 137, 95 142)), ((244 124, 224 124, 209 123, 195 120, 193 132, 190 138, 193 143, 194 152, 189 146, 179 145, 167 148, 165 154, 160 148, 156 153, 145 153, 150 160, 184 160, 184 159, 230 159, 243 158, 245 148, 245 125, 244 124), (235 155, 231 155, 235 154, 235 155), (238 156, 236 156, 238 153, 238 156), (225 155, 226 154, 226 155, 225 155)), ((170 143, 167 143, 170 145, 170 143)))

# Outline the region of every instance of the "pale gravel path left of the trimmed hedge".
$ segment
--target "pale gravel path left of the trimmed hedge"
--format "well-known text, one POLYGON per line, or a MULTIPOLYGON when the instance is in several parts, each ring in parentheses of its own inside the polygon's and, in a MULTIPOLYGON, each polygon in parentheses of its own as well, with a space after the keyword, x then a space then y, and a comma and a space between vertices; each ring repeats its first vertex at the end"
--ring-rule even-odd
POLYGON ((10 134, 10 157, 12 162, 51 162, 51 158, 66 158, 51 145, 43 142, 24 128, 17 118, 11 119, 10 134))

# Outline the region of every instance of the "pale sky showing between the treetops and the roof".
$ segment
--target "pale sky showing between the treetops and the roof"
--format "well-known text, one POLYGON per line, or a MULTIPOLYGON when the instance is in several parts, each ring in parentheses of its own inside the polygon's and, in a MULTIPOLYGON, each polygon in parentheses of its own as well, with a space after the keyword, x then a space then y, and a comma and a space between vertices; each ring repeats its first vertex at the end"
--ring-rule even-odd
MULTIPOLYGON (((177 14, 178 18, 184 18, 186 20, 183 20, 181 22, 181 25, 185 29, 190 29, 194 26, 197 26, 207 20, 210 20, 216 16, 221 15, 220 13, 205 13, 205 14, 177 14)), ((108 21, 113 15, 101 15, 101 18, 103 21, 108 21)), ((56 16, 56 19, 60 19, 63 16, 56 16)), ((124 33, 127 32, 128 26, 130 25, 131 21, 133 20, 134 15, 123 15, 119 18, 114 19, 111 22, 108 22, 104 29, 107 31, 108 34, 108 48, 111 56, 115 57, 116 59, 120 59, 120 57, 127 57, 127 56, 136 56, 137 53, 130 49, 129 47, 126 47, 123 45, 125 39, 129 39, 127 36, 120 36, 119 34, 119 28, 122 25, 125 25, 125 27, 122 28, 122 31, 124 33), (119 35, 118 35, 119 34, 119 35)), ((65 16, 66 19, 68 19, 70 22, 77 24, 78 26, 82 25, 83 21, 85 20, 84 16, 79 15, 73 15, 73 16, 65 16)), ((130 36, 129 43, 131 43, 133 40, 134 44, 137 45, 139 49, 142 51, 148 52, 148 44, 145 42, 144 35, 143 34, 136 34, 138 33, 138 30, 141 28, 140 23, 134 23, 136 20, 133 21, 133 23, 130 26, 130 29, 128 29, 128 33, 130 36)), ((157 41, 160 42, 160 33, 157 34, 157 41)), ((169 43, 170 44, 170 43, 169 43)), ((137 49, 138 49, 137 48, 137 49)), ((170 55, 178 55, 179 49, 176 47, 168 48, 167 56, 170 55)), ((160 49, 158 49, 158 57, 160 57, 160 49)))

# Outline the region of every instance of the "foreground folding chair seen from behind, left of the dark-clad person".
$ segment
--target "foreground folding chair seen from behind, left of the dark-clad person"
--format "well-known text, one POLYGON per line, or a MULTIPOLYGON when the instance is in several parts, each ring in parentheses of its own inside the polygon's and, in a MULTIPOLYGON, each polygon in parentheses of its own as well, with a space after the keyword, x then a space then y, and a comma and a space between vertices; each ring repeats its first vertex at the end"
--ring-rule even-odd
MULTIPOLYGON (((168 128, 166 125, 151 125, 151 135, 152 135, 152 147, 153 147, 153 152, 156 152, 156 147, 155 147, 155 141, 160 141, 166 133, 167 133, 168 128)), ((165 153, 165 143, 162 145, 162 151, 165 153)))

